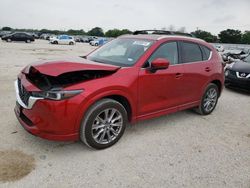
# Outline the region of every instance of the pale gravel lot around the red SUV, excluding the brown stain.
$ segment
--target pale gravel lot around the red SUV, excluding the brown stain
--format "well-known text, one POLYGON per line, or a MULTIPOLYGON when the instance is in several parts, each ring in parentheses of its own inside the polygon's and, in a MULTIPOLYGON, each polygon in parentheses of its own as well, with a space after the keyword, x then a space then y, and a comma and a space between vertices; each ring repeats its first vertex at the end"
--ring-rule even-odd
POLYGON ((31 173, 0 187, 250 187, 250 95, 233 90, 223 91, 212 115, 188 110, 128 126, 102 151, 28 134, 13 112, 18 72, 92 48, 0 41, 0 154, 17 150, 35 159, 31 173))

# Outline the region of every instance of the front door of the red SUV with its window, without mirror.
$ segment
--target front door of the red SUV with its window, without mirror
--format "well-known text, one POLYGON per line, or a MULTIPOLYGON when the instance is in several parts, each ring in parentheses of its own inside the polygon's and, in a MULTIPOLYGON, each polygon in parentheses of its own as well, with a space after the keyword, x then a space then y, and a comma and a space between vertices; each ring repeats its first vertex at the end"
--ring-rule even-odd
POLYGON ((148 66, 139 71, 138 84, 138 116, 153 115, 155 113, 177 111, 181 104, 183 65, 178 64, 177 42, 162 44, 148 59, 148 66), (157 58, 170 61, 165 70, 155 73, 149 71, 150 64, 157 58))

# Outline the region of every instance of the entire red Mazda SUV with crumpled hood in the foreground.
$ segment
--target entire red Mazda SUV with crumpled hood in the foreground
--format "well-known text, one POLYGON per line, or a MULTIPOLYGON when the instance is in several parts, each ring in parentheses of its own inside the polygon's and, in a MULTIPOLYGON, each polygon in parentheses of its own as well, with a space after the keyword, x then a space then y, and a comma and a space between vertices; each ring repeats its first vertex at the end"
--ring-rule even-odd
POLYGON ((221 61, 200 39, 121 36, 82 58, 25 67, 15 113, 33 135, 107 148, 127 122, 188 108, 210 114, 223 88, 221 61))

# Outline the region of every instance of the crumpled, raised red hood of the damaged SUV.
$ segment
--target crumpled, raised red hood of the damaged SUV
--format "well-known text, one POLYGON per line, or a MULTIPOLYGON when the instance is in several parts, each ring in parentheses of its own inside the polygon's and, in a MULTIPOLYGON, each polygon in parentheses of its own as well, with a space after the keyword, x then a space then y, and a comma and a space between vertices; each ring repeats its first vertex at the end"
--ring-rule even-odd
POLYGON ((84 70, 103 70, 112 72, 117 71, 120 68, 114 65, 96 63, 80 57, 66 60, 38 61, 25 67, 22 72, 28 74, 30 67, 34 67, 40 73, 49 76, 59 76, 63 73, 84 70))

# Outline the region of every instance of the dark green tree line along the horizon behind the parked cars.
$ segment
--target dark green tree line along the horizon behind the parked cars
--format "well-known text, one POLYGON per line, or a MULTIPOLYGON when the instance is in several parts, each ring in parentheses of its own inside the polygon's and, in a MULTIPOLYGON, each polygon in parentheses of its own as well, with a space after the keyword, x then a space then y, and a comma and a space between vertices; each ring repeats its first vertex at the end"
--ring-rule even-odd
MULTIPOLYGON (((35 33, 49 33, 49 34, 68 34, 68 35, 89 35, 89 36, 99 36, 99 37, 118 37, 124 34, 131 34, 132 31, 128 29, 110 29, 106 32, 103 31, 101 27, 94 27, 91 30, 85 32, 83 29, 75 30, 69 29, 67 31, 61 30, 49 30, 49 29, 13 29, 11 27, 3 27, 2 30, 5 31, 24 31, 24 32, 35 32, 35 33)), ((234 43, 234 44, 250 44, 250 31, 242 32, 235 29, 226 29, 221 31, 218 36, 213 35, 208 31, 196 30, 191 32, 191 34, 197 38, 203 39, 207 42, 215 43, 234 43)))

